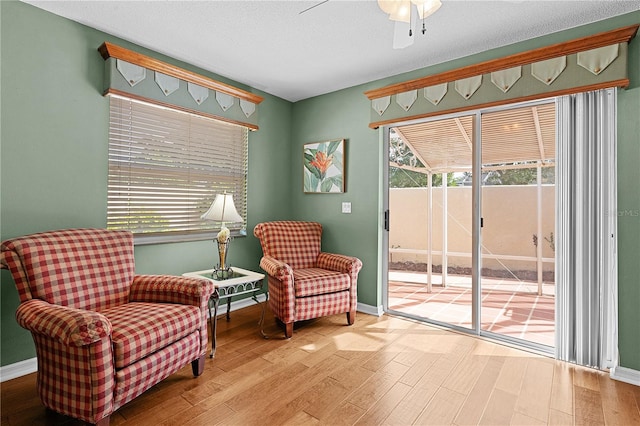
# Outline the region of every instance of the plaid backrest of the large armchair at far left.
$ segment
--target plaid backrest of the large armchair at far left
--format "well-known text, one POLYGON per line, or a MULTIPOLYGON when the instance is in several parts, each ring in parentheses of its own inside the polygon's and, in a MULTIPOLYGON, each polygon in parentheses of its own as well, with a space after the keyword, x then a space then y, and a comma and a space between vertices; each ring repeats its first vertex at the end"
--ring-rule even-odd
POLYGON ((133 235, 128 231, 68 229, 4 241, 20 301, 96 310, 126 303, 135 274, 133 235))

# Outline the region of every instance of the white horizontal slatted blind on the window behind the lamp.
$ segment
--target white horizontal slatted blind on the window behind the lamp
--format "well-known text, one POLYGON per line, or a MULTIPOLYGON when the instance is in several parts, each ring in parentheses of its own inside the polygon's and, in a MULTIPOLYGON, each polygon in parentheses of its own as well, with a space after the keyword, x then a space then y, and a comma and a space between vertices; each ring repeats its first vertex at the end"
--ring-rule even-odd
POLYGON ((216 194, 233 194, 245 232, 247 129, 179 110, 110 97, 107 227, 136 243, 204 239, 221 223, 205 221, 216 194))

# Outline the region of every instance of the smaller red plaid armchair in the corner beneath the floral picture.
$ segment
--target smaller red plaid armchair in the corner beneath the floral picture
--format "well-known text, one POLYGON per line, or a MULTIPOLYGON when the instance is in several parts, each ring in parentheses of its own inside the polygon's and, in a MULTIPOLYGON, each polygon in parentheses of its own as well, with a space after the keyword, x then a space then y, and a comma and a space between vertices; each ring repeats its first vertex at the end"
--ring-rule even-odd
POLYGON ((269 307, 293 335, 295 321, 346 312, 356 320, 360 259, 320 250, 322 225, 316 222, 259 223, 253 234, 264 256, 260 267, 269 276, 269 307))

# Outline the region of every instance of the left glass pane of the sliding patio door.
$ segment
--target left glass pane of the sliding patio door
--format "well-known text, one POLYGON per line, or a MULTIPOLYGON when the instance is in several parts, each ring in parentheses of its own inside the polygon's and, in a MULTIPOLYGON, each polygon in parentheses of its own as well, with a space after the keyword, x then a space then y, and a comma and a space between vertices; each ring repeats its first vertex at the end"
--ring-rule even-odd
POLYGON ((389 309, 471 328, 472 116, 393 128, 389 309))

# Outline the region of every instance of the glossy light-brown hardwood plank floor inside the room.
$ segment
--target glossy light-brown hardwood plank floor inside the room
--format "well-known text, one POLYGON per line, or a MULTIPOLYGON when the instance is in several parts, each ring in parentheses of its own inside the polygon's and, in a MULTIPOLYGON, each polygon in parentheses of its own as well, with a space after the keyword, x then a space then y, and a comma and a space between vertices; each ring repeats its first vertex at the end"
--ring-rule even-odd
MULTIPOLYGON (((390 316, 308 322, 284 334, 267 312, 220 318, 218 351, 111 416, 112 425, 638 425, 640 387, 390 316)), ((40 404, 35 374, 1 385, 2 425, 75 425, 40 404)))

